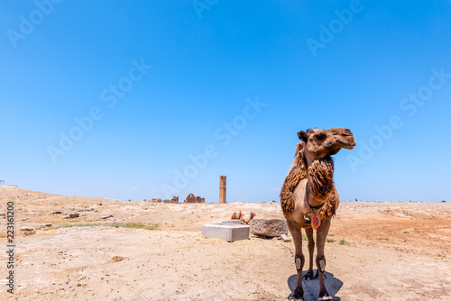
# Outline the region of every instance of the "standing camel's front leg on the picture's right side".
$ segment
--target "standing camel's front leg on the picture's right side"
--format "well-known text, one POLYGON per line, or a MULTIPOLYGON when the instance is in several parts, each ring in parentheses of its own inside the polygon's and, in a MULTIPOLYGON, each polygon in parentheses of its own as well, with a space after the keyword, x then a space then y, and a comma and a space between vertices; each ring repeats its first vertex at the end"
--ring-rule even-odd
POLYGON ((317 229, 317 269, 319 278, 319 300, 332 300, 326 289, 325 272, 326 272, 326 256, 324 255, 324 246, 326 244, 327 233, 330 229, 330 219, 324 220, 317 229))

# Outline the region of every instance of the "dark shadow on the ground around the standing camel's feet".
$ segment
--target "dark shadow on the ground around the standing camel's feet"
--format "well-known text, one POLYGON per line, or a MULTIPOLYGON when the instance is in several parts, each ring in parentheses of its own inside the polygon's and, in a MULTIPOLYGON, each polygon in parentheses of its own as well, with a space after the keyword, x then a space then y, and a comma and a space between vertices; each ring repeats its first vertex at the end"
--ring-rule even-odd
MULTIPOLYGON (((302 273, 302 276, 304 276, 307 273, 307 270, 305 270, 302 273)), ((315 271, 316 273, 316 271, 315 271)), ((326 288, 327 288, 327 292, 330 294, 330 296, 333 297, 334 301, 340 301, 341 298, 339 296, 336 296, 336 293, 338 293, 338 291, 340 290, 341 287, 343 287, 343 282, 334 277, 334 274, 329 273, 326 271, 326 288)), ((296 274, 291 275, 290 278, 288 278, 287 282, 288 282, 288 287, 290 287, 291 293, 290 296, 293 294, 294 289, 296 288, 296 281, 297 281, 298 277, 296 274)), ((315 301, 315 299, 311 296, 310 293, 310 289, 308 289, 308 287, 310 287, 311 289, 311 293, 313 293, 313 295, 318 299, 318 294, 319 294, 319 280, 318 279, 313 279, 313 280, 304 280, 302 282, 302 288, 304 288, 304 298, 305 301, 315 301)), ((287 299, 290 299, 290 296, 287 297, 287 299)))

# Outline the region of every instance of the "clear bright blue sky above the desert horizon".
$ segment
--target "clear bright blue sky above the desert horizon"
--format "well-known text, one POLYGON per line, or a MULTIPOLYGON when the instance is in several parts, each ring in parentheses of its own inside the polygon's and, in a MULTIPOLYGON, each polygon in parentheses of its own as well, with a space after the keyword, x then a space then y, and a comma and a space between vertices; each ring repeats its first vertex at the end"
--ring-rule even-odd
POLYGON ((335 157, 342 200, 451 201, 448 0, 0 11, 6 184, 215 203, 226 175, 228 201, 279 201, 296 133, 347 127, 357 146, 335 157))

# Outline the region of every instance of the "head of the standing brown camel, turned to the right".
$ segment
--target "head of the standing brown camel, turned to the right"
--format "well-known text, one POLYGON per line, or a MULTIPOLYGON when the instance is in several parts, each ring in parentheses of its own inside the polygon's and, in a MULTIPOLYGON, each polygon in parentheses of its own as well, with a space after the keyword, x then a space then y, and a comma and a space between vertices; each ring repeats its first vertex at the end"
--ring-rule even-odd
POLYGON ((311 160, 333 156, 341 149, 352 150, 355 146, 354 134, 345 128, 300 131, 298 137, 302 141, 299 150, 311 160))

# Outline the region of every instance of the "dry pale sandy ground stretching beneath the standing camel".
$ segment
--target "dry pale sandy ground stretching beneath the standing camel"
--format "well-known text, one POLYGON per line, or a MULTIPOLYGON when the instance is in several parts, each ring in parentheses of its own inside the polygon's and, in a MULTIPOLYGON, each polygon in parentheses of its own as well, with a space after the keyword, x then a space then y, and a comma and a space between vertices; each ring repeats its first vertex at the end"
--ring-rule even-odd
MULTIPOLYGON (((282 218, 278 203, 153 205, 7 186, 0 201, 0 213, 14 202, 16 245, 14 295, 6 292, 7 257, 0 256, 0 300, 286 300, 295 286, 292 242, 200 234, 204 223, 239 210, 282 218), (80 217, 61 218, 70 213, 80 217), (68 223, 97 225, 61 227, 68 223), (23 227, 34 230, 25 235, 23 227)), ((0 237, 6 250, 4 218, 0 237)), ((342 202, 328 238, 334 300, 451 300, 451 204, 342 202)), ((306 300, 314 300, 309 289, 318 297, 318 280, 304 283, 306 300)))

